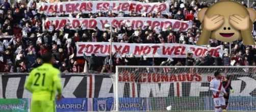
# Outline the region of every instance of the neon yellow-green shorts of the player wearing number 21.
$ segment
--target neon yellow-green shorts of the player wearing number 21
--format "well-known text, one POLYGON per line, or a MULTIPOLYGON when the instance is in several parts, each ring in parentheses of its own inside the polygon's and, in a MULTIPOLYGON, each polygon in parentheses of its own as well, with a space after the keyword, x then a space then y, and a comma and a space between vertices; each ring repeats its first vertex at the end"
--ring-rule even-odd
POLYGON ((36 100, 31 102, 31 112, 55 112, 55 101, 36 100))

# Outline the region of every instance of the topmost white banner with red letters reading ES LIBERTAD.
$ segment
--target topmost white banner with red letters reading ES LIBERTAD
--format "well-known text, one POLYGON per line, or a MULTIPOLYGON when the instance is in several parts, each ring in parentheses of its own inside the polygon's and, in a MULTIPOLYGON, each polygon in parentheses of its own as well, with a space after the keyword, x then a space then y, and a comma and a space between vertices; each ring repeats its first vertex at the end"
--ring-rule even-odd
POLYGON ((38 12, 44 11, 47 15, 61 14, 66 12, 74 13, 96 13, 98 11, 111 10, 113 13, 129 13, 130 11, 136 13, 157 13, 166 14, 169 12, 168 3, 142 3, 135 1, 72 1, 59 3, 37 3, 38 12))

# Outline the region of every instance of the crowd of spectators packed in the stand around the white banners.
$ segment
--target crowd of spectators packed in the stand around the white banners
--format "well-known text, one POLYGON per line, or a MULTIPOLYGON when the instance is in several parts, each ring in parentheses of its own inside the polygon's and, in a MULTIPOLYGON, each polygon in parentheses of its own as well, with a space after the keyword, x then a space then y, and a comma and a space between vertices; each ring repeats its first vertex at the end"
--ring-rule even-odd
MULTIPOLYGON (((40 1, 41 2, 41 1, 40 1)), ((165 2, 165 1, 161 1, 165 2)), ((217 2, 217 1, 215 1, 217 2)), ((214 3, 212 3, 214 4, 214 3)), ((245 7, 245 2, 241 2, 245 7)), ((182 43, 196 44, 200 35, 200 22, 197 20, 197 12, 209 7, 208 2, 181 1, 170 3, 171 15, 161 15, 159 13, 147 13, 149 18, 169 18, 178 20, 193 21, 193 26, 187 32, 169 30, 156 34, 156 31, 148 26, 146 30, 133 30, 131 27, 125 27, 121 30, 113 30, 113 41, 123 43, 182 43), (180 8, 184 4, 184 8, 180 8), (139 36, 134 36, 135 31, 140 31, 139 36), (118 39, 118 34, 123 34, 122 39, 118 39)), ((250 6, 256 9, 256 2, 250 6)), ((42 64, 40 55, 45 52, 52 52, 56 59, 55 67, 61 72, 84 72, 85 60, 87 60, 89 72, 110 72, 110 56, 97 57, 92 54, 91 57, 76 57, 75 42, 109 42, 110 31, 100 31, 97 27, 94 30, 70 30, 69 25, 65 25, 64 29, 54 30, 52 32, 42 31, 42 21, 47 17, 43 12, 36 13, 36 1, 30 1, 29 4, 22 3, 18 0, 14 4, 8 3, 7 0, 0 5, 0 72, 30 72, 33 68, 42 64), (67 42, 64 34, 69 34, 71 42, 67 42), (40 39, 38 39, 40 38, 40 39), (53 40, 53 38, 57 38, 53 40), (41 40, 41 41, 38 41, 41 40)), ((120 12, 121 13, 121 12, 120 12)), ((70 13, 65 15, 62 13, 59 17, 118 17, 122 14, 108 12, 98 13, 70 13)), ((124 17, 142 17, 141 14, 130 12, 124 14, 124 17)), ((49 17, 57 17, 53 14, 49 17)), ((256 24, 254 23, 254 29, 256 24)), ((255 32, 253 34, 256 35, 255 32)), ((134 58, 134 55, 127 55, 124 58, 117 57, 117 53, 113 52, 112 68, 116 65, 127 66, 255 66, 256 62, 256 46, 244 46, 241 41, 232 42, 231 54, 229 54, 229 43, 223 43, 217 40, 210 40, 207 47, 215 47, 223 45, 224 54, 222 57, 213 58, 208 52, 203 57, 193 59, 193 54, 188 53, 187 58, 134 58)))

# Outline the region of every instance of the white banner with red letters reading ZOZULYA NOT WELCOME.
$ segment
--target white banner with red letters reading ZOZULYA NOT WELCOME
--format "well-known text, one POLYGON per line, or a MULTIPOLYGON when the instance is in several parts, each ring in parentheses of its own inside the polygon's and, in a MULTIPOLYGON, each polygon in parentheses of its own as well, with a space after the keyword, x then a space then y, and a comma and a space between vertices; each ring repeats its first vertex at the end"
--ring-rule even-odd
MULTIPOLYGON (((76 56, 81 57, 83 53, 87 56, 95 53, 99 56, 110 54, 109 42, 77 42, 76 56)), ((193 58, 201 57, 208 51, 213 57, 216 54, 223 53, 222 46, 201 47, 187 44, 131 44, 131 43, 112 43, 112 52, 119 52, 124 57, 126 54, 133 53, 135 57, 141 57, 144 54, 147 58, 187 58, 186 53, 194 53, 193 58)))

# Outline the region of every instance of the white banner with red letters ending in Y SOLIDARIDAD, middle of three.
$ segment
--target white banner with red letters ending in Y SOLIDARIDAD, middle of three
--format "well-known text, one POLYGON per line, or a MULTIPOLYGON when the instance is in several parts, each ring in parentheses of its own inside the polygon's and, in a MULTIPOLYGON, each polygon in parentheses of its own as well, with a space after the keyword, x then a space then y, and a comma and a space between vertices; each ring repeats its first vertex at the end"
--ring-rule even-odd
POLYGON ((181 21, 175 19, 161 19, 161 18, 148 18, 148 17, 97 17, 97 18, 71 18, 71 17, 48 17, 44 22, 43 30, 49 30, 51 26, 55 29, 63 29, 66 24, 70 25, 71 30, 77 29, 79 26, 82 29, 94 29, 95 26, 99 30, 105 31, 105 24, 110 24, 112 21, 112 26, 120 30, 122 24, 125 26, 131 26, 134 30, 139 27, 142 30, 146 29, 148 26, 152 26, 153 29, 158 27, 162 31, 168 30, 169 26, 172 26, 173 31, 187 31, 192 27, 192 22, 181 21))

